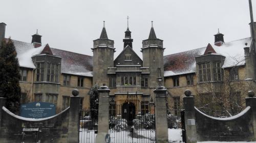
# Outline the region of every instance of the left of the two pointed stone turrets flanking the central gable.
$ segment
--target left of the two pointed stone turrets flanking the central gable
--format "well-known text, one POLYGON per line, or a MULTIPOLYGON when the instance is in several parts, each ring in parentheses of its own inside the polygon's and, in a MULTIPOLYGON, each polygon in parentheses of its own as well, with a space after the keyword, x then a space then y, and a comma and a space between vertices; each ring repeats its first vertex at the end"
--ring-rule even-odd
MULTIPOLYGON (((108 85, 106 74, 109 67, 114 67, 114 41, 108 38, 105 21, 99 39, 93 41, 93 84, 108 85)), ((109 86, 109 85, 108 85, 109 86)))

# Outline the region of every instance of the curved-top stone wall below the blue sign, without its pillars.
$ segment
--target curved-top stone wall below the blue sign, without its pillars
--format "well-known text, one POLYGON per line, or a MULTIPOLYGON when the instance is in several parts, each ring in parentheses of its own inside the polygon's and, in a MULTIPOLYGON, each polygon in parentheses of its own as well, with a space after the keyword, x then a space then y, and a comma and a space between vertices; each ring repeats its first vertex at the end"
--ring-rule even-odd
POLYGON ((46 120, 28 120, 13 115, 3 107, 2 123, 0 126, 0 142, 67 142, 69 108, 57 116, 46 120), (39 131, 23 131, 24 128, 39 131))

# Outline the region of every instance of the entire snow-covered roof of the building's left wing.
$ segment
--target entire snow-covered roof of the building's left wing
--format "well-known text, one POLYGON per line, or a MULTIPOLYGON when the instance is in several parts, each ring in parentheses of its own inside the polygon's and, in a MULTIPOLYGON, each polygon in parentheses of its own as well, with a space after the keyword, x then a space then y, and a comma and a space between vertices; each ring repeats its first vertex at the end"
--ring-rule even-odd
POLYGON ((61 57, 61 73, 92 77, 93 58, 90 55, 50 48, 48 44, 34 48, 31 43, 12 41, 16 47, 20 67, 35 69, 31 57, 37 54, 49 54, 50 52, 61 57))

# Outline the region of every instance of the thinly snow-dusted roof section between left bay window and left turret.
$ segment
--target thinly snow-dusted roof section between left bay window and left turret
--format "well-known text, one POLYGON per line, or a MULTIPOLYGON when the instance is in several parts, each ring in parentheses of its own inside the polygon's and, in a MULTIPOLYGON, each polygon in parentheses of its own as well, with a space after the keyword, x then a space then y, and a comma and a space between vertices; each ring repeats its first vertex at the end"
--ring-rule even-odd
POLYGON ((90 55, 51 48, 53 55, 61 56, 61 73, 92 77, 93 57, 90 55))

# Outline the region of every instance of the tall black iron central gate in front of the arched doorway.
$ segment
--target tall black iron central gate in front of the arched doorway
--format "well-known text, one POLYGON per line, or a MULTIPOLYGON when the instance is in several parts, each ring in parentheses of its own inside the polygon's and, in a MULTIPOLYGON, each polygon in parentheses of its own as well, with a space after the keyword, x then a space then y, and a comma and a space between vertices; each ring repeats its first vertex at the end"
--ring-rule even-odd
POLYGON ((110 137, 112 143, 156 142, 155 104, 128 94, 124 103, 110 103, 110 137))

